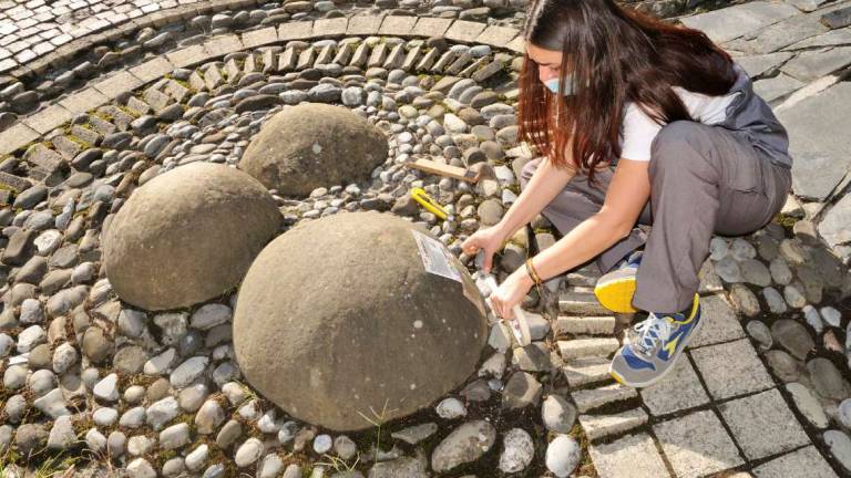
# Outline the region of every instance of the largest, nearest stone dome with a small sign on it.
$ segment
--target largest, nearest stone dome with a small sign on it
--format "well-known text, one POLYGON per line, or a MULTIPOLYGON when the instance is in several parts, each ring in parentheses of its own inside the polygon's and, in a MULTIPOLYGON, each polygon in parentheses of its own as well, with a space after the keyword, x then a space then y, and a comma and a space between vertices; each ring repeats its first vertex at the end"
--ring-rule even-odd
POLYGON ((348 432, 429 406, 474 373, 484 302, 448 251, 460 281, 428 272, 412 230, 428 235, 389 214, 342 212, 271 241, 234 312, 248 383, 294 417, 348 432))

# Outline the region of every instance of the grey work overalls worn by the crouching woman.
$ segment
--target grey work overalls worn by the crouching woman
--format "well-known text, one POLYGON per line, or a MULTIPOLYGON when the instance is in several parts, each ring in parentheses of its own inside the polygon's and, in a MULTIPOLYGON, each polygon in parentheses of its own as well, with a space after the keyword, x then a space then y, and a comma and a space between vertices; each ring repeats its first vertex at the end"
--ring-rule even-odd
MULTIPOLYGON (((791 187, 792 159, 788 137, 766 102, 753 93, 747 73, 735 65, 739 91, 716 125, 678 121, 665 125, 654 138, 650 200, 638 224, 649 233, 632 233, 599 254, 602 272, 611 270, 634 249, 645 245, 636 278, 633 306, 652 312, 677 312, 691 304, 698 271, 714 233, 740 236, 766 226, 783 207, 791 187)), ((521 188, 542 158, 529 162, 521 188)), ((562 235, 596 214, 603 205, 613 169, 595 176, 592 187, 575 176, 544 208, 562 235)))

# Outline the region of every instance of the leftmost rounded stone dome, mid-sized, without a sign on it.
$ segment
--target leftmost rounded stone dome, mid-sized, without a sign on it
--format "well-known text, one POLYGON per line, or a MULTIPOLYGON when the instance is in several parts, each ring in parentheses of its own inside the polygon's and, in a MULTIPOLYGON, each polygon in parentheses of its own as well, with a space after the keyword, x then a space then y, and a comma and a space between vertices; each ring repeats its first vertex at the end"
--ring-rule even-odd
POLYGON ((233 167, 191 163, 130 196, 106 230, 106 277, 147 310, 188 306, 235 288, 280 226, 275 199, 233 167))

